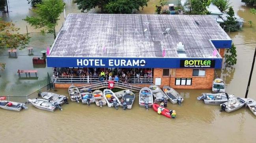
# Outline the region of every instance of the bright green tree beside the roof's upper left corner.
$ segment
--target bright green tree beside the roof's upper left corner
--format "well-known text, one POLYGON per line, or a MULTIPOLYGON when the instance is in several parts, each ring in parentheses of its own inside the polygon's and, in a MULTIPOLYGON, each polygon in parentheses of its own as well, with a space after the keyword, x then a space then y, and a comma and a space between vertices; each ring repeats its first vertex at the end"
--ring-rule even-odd
POLYGON ((37 16, 26 16, 24 20, 36 29, 42 28, 42 34, 45 34, 45 29, 47 29, 48 33, 54 34, 55 39, 55 26, 60 20, 58 17, 63 12, 64 5, 62 0, 43 0, 42 4, 36 4, 37 9, 34 12, 37 16))

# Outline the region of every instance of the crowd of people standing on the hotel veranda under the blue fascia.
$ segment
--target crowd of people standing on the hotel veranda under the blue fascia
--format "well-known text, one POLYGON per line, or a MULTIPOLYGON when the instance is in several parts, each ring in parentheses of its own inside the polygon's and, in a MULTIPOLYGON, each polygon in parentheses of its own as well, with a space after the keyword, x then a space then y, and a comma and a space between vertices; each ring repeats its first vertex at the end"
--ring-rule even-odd
POLYGON ((115 68, 113 70, 108 68, 62 68, 53 69, 54 76, 58 78, 80 78, 85 80, 88 76, 90 78, 98 78, 99 81, 114 80, 125 83, 132 82, 147 82, 153 77, 151 69, 132 69, 132 68, 115 68))

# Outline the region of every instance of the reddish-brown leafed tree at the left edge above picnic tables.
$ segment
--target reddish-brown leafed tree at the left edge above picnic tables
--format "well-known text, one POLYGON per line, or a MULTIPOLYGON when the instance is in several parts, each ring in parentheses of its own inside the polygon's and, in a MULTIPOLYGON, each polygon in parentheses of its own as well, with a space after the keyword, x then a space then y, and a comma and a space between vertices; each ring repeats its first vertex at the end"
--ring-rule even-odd
MULTIPOLYGON (((24 49, 29 42, 26 34, 18 33, 19 28, 12 22, 5 22, 0 18, 0 49, 24 49)), ((0 62, 0 70, 5 68, 5 63, 0 62)))

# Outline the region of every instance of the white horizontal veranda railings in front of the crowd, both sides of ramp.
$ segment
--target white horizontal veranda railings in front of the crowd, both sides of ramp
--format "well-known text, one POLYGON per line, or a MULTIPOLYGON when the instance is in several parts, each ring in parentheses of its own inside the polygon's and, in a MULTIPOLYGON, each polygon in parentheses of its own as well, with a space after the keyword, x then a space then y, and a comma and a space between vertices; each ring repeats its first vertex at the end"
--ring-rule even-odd
MULTIPOLYGON (((153 83, 153 77, 151 78, 136 78, 136 77, 131 77, 131 83, 153 83)), ((99 81, 98 76, 66 76, 66 77, 56 77, 54 79, 55 82, 97 82, 99 81)))

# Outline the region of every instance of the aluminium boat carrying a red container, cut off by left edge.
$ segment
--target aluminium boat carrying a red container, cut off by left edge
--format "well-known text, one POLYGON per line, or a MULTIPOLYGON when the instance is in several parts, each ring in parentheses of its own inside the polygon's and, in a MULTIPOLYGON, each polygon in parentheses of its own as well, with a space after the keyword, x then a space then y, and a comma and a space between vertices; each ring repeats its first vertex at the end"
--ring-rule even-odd
POLYGON ((23 108, 28 109, 28 107, 26 107, 24 103, 6 101, 6 100, 0 100, 0 108, 13 110, 13 111, 21 111, 21 109, 23 108))

